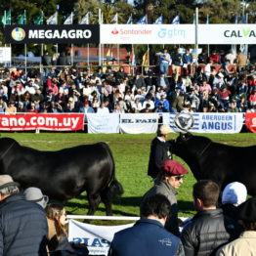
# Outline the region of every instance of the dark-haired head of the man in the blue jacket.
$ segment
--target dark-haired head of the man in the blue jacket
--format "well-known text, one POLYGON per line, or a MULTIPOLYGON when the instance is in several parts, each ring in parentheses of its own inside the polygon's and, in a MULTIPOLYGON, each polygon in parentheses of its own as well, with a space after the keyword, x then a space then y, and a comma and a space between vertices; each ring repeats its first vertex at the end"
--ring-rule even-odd
POLYGON ((162 194, 153 194, 143 200, 140 207, 141 218, 154 216, 157 219, 163 219, 169 216, 171 204, 167 197, 162 194))

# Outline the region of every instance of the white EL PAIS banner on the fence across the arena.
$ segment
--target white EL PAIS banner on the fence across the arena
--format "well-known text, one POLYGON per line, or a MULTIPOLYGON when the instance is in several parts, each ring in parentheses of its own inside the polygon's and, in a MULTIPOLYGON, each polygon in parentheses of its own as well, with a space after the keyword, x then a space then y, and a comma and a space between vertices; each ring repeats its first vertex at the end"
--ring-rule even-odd
POLYGON ((156 133, 158 113, 121 113, 120 132, 129 134, 156 133))

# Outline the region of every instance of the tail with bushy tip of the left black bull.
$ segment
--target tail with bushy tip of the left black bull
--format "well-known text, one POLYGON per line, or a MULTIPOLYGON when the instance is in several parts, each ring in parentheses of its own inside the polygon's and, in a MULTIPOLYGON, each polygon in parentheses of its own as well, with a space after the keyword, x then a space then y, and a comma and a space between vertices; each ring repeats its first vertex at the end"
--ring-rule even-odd
POLYGON ((112 152, 106 143, 103 143, 103 146, 107 149, 109 162, 111 162, 112 164, 111 178, 107 185, 107 196, 109 196, 112 199, 116 196, 122 195, 124 191, 123 191, 122 185, 116 180, 116 177, 115 177, 115 164, 114 164, 112 152))

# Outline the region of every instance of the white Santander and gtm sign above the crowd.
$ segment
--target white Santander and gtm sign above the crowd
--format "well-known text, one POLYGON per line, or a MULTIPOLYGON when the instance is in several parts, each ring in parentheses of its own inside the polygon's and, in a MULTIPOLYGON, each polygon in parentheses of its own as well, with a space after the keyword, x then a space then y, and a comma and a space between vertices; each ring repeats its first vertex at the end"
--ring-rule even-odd
POLYGON ((194 44, 193 24, 101 24, 102 44, 194 44))

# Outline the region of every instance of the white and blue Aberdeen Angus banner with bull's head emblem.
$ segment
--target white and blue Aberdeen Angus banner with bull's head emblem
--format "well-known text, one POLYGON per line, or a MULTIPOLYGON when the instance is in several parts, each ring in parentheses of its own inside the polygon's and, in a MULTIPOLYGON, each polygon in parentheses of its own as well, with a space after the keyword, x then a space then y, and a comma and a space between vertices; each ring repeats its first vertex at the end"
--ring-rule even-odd
POLYGON ((169 124, 175 132, 184 132, 177 127, 180 123, 192 123, 192 133, 239 133, 243 124, 243 113, 192 113, 191 118, 184 118, 181 113, 163 113, 163 123, 169 124), (175 124, 176 122, 176 124, 175 124))

